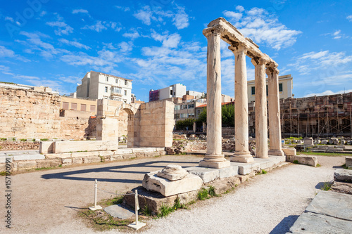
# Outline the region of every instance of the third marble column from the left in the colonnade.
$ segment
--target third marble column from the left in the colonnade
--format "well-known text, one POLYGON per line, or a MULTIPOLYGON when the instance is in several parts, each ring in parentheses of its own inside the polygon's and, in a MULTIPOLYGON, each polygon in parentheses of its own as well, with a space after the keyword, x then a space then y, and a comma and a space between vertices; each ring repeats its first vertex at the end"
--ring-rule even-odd
POLYGON ((268 157, 268 116, 266 103, 265 58, 252 59, 255 69, 256 157, 268 157))

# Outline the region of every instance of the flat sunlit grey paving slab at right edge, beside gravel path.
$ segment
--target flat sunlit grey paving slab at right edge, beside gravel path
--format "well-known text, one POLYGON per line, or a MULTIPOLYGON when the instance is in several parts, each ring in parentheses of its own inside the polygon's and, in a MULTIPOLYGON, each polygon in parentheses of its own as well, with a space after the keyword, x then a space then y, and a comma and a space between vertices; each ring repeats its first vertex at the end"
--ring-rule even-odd
POLYGON ((352 221, 352 195, 320 191, 310 202, 306 212, 352 221))

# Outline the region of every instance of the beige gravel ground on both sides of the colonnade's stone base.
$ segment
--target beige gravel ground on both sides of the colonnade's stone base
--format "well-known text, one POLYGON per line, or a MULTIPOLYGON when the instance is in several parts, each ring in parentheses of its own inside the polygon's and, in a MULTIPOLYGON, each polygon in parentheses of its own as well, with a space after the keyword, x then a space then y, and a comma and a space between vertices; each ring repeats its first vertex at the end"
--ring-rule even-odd
MULTIPOLYGON (((332 180, 333 167, 344 164, 344 157, 318 156, 318 161, 322 167, 288 164, 254 176, 232 193, 149 220, 139 232, 285 233, 318 192, 317 185, 332 180)), ((92 202, 94 178, 101 181, 100 188, 129 190, 140 183, 146 171, 170 163, 185 167, 197 162, 199 157, 165 156, 12 176, 13 228, 5 233, 94 233, 75 219, 75 213, 92 202)), ((5 203, 3 197, 0 204, 5 203)), ((109 195, 101 195, 106 197, 109 195)), ((1 211, 5 212, 4 208, 1 211)))

